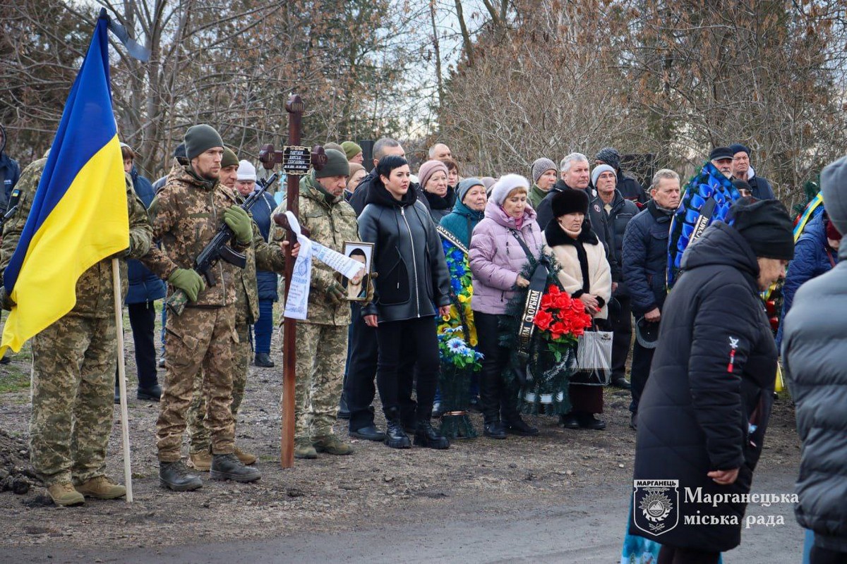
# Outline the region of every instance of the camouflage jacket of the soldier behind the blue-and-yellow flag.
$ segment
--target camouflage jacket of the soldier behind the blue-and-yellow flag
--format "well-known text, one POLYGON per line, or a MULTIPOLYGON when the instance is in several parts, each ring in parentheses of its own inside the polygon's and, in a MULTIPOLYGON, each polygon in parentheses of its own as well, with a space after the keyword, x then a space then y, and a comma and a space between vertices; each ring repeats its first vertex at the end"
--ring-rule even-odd
MULTIPOLYGON (((26 167, 20 175, 15 188, 20 189, 18 212, 3 226, 3 248, 0 249, 0 269, 5 270, 18 245, 20 234, 24 230, 27 216, 30 215, 32 201, 35 198, 38 182, 42 178, 47 159, 39 159, 26 167)), ((129 253, 121 253, 120 258, 138 259, 147 254, 152 240, 152 228, 147 218, 144 204, 132 189, 132 178, 126 178, 126 206, 130 214, 130 247, 129 253)), ((129 284, 127 282, 126 260, 119 260, 120 266, 120 295, 126 296, 129 284)), ((93 317, 108 317, 114 315, 112 257, 99 261, 82 273, 76 281, 76 304, 70 313, 93 317)))

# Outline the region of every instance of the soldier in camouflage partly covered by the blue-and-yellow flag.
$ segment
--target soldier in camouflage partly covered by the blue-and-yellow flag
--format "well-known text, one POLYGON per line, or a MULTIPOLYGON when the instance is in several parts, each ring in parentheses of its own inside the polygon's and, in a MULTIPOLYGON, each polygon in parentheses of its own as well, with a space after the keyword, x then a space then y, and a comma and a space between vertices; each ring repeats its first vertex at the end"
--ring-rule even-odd
MULTIPOLYGON (((5 270, 18 244, 47 159, 26 167, 20 177, 19 210, 3 228, 0 269, 5 270)), ((140 258, 150 249, 147 211, 126 175, 130 246, 120 258, 140 258)), ((53 501, 80 505, 84 496, 125 496, 103 473, 112 432, 114 372, 118 341, 114 325, 112 257, 82 273, 76 282, 74 309, 32 337, 32 415, 30 461, 53 501)), ((127 267, 119 260, 120 292, 126 296, 127 267)), ((5 298, 4 306, 11 305, 5 298)))

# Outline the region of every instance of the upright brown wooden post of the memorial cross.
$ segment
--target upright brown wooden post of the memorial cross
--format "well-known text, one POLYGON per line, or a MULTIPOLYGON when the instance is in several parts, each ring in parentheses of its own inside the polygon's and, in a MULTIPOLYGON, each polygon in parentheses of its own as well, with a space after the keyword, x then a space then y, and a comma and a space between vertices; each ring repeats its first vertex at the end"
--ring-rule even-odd
MULTIPOLYGON (((285 102, 285 111, 288 112, 288 145, 300 145, 300 134, 302 129, 303 101, 300 96, 292 94, 285 102)), ((299 213, 300 203, 300 177, 289 174, 286 177, 288 183, 286 190, 287 211, 291 211, 296 217, 299 213)), ((294 271, 294 260, 291 258, 291 249, 297 239, 291 229, 288 230, 288 247, 285 249, 285 280, 291 280, 294 271)), ((288 298, 289 284, 285 284, 285 300, 288 298)), ((283 302, 285 304, 285 301, 283 302)), ((282 438, 280 442, 280 463, 282 468, 294 466, 294 388, 296 381, 296 320, 285 318, 283 321, 283 369, 282 369, 282 438)))

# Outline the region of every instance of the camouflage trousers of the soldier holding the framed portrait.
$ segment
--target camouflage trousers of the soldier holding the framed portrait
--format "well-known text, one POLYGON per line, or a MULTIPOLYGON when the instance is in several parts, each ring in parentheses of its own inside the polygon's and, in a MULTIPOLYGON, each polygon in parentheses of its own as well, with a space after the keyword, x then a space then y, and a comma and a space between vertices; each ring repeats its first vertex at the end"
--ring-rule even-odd
POLYGON ((298 323, 296 349, 294 436, 331 435, 344 380, 347 326, 298 323))

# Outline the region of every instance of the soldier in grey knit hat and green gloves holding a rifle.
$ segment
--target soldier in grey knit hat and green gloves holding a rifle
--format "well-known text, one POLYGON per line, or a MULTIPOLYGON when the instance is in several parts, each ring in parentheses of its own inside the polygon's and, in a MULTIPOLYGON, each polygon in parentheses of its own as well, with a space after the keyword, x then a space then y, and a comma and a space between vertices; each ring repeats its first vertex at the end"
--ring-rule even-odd
MULTIPOLYGON (((165 337, 166 385, 156 424, 159 481, 176 491, 202 486, 180 460, 185 413, 191 403, 194 378, 203 370, 206 399, 205 425, 212 438, 212 479, 251 482, 261 477, 235 457, 235 420, 230 410, 235 367, 236 285, 240 272, 223 260, 213 268, 216 284, 206 287, 191 270, 197 255, 211 241, 221 222, 235 233, 232 246, 245 252, 252 243, 252 221, 237 205, 232 190, 219 183, 224 143, 208 125, 185 133, 189 164, 174 167, 167 183, 150 205, 154 238, 163 250, 153 248, 144 260, 150 270, 166 278, 169 290, 183 290, 190 302, 182 315, 169 315, 165 337)), ((281 262, 282 251, 274 249, 281 262)))

